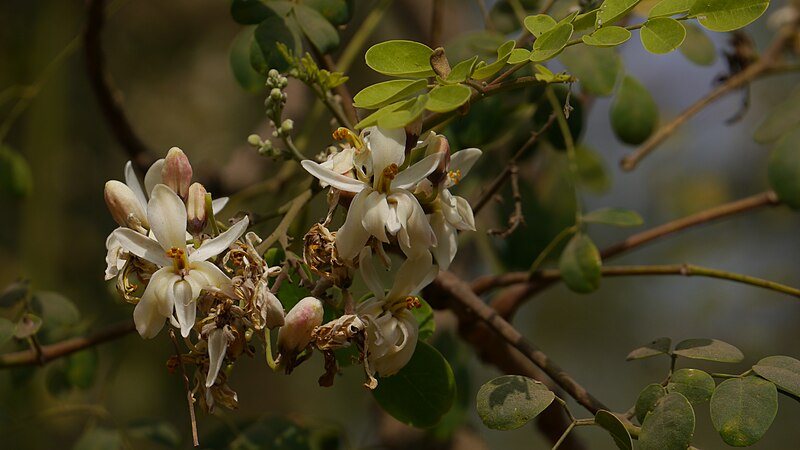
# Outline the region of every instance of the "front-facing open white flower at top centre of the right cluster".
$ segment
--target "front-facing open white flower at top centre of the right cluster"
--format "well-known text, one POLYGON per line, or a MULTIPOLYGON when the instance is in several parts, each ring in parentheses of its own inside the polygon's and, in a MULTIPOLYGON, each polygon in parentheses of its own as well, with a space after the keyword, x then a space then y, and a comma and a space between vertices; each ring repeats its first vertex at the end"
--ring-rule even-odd
POLYGON ((372 172, 372 180, 350 178, 310 160, 302 162, 303 168, 321 181, 356 194, 336 235, 339 256, 354 258, 370 236, 384 243, 389 242, 389 235, 397 236, 407 256, 428 251, 436 244, 436 236, 409 189, 436 169, 441 156, 429 155, 401 171, 405 160, 403 129, 374 128, 364 139, 371 156, 365 171, 372 172))

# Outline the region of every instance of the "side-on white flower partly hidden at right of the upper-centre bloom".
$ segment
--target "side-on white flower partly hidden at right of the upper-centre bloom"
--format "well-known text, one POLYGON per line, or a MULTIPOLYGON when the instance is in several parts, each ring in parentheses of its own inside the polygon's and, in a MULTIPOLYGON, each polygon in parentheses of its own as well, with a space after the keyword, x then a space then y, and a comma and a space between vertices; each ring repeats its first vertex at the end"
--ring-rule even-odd
POLYGON ((448 188, 465 177, 480 156, 481 151, 477 148, 467 148, 453 153, 450 157, 447 178, 442 183, 438 200, 434 203, 434 210, 430 214, 431 228, 436 235, 433 254, 442 270, 447 270, 456 256, 457 230, 475 231, 475 218, 469 202, 462 197, 452 195, 448 188))

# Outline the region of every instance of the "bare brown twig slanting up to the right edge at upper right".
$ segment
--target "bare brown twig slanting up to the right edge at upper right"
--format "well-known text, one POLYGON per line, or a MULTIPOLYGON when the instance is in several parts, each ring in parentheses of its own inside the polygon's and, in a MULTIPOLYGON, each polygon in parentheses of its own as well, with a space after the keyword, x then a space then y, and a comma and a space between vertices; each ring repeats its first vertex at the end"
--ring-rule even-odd
MULTIPOLYGON (((736 75, 728 78, 725 83, 711 91, 708 95, 695 102, 692 106, 687 108, 677 117, 672 119, 669 123, 662 126, 650 138, 645 141, 636 151, 625 156, 620 161, 620 166, 623 170, 633 170, 636 165, 650 152, 655 150, 664 140, 674 133, 678 127, 686 123, 692 116, 700 112, 703 108, 719 99, 720 97, 732 92, 754 79, 768 75, 772 72, 774 67, 779 67, 781 56, 786 45, 794 38, 797 28, 797 21, 784 26, 779 32, 778 36, 769 46, 764 55, 755 63, 748 66, 745 70, 737 73, 736 75)), ((777 72, 775 72, 777 73, 777 72)))

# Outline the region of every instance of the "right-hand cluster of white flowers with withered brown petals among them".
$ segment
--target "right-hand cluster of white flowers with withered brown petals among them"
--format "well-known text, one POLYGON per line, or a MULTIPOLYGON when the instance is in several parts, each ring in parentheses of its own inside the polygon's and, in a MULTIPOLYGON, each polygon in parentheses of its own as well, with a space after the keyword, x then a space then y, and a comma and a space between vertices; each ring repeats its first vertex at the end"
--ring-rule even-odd
MULTIPOLYGON (((361 336, 357 342, 366 385, 374 388, 376 374, 396 373, 414 353, 419 326, 409 309, 419 304, 415 293, 439 268, 449 267, 457 250, 457 231, 475 229, 469 203, 449 188, 467 174, 481 151, 470 148, 451 155, 443 136, 431 132, 423 140, 410 140, 404 129, 371 127, 360 135, 339 129, 334 137, 346 141, 341 150, 322 163, 305 160, 302 165, 331 187, 332 206, 349 200, 347 217, 338 231, 324 229, 311 241, 330 236, 331 265, 358 269, 372 297, 316 335, 323 350, 361 336), (390 268, 385 246, 398 248, 404 257, 388 292, 376 269, 379 264, 390 268)), ((307 246, 308 242, 307 237, 307 246)), ((313 245, 306 255, 324 260, 317 255, 320 244, 313 245)), ((313 269, 315 264, 309 265, 313 269)))

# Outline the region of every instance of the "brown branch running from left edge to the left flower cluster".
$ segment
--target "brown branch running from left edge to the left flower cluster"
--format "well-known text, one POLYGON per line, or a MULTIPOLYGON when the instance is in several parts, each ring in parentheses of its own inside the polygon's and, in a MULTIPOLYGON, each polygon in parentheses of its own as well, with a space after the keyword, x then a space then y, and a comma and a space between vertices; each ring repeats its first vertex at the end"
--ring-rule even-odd
POLYGON ((108 341, 126 336, 136 330, 133 321, 111 325, 87 337, 67 339, 55 344, 41 347, 41 358, 34 349, 0 355, 0 369, 11 367, 35 366, 45 364, 54 359, 63 358, 83 349, 94 347, 108 341))

